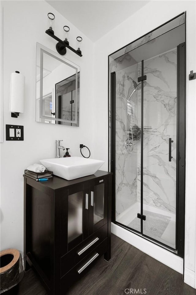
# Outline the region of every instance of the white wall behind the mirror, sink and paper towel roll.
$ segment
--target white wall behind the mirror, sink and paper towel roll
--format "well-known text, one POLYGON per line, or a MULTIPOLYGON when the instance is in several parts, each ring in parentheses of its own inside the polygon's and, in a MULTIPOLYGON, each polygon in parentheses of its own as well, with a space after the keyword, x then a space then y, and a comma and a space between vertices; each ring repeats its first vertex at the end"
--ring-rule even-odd
MULTIPOLYGON (((55 157, 55 140, 80 155, 79 144, 92 151, 92 59, 93 44, 76 27, 45 1, 3 1, 3 102, 4 132, 6 124, 24 125, 24 141, 1 144, 1 250, 16 248, 23 252, 23 173, 39 159, 55 157), (81 67, 80 127, 44 124, 36 114, 36 42, 56 51, 56 41, 45 33, 47 13, 55 14, 55 32, 63 38, 63 26, 70 26, 70 45, 83 38, 83 57, 67 50, 66 58, 81 67), (9 112, 10 74, 25 75, 25 113, 11 118, 9 112)), ((1 97, 2 98, 2 97, 1 97)), ((5 133, 4 133, 5 134, 5 133)), ((93 158, 93 151, 92 151, 93 158)))

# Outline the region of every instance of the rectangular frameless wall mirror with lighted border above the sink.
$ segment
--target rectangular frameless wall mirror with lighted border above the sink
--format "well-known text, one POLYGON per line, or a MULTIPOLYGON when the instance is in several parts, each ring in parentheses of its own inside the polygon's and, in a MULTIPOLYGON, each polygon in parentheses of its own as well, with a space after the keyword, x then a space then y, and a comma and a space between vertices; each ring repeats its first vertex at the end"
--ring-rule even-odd
POLYGON ((80 67, 37 43, 36 121, 79 126, 80 67))

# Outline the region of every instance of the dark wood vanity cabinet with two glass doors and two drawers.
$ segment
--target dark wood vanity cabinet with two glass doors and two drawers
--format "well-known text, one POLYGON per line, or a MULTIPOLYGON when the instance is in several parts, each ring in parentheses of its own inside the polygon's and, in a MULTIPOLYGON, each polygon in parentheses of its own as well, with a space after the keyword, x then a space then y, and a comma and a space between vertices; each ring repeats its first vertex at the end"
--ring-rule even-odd
POLYGON ((111 256, 112 174, 37 182, 24 175, 25 270, 62 295, 104 255, 111 256))

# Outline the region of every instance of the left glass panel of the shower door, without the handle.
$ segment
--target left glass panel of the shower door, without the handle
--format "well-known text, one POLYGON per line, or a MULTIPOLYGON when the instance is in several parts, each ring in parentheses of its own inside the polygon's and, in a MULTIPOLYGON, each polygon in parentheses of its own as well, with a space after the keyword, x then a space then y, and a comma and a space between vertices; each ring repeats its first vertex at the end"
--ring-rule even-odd
POLYGON ((115 73, 116 221, 141 233, 141 88, 135 89, 141 62, 115 73))

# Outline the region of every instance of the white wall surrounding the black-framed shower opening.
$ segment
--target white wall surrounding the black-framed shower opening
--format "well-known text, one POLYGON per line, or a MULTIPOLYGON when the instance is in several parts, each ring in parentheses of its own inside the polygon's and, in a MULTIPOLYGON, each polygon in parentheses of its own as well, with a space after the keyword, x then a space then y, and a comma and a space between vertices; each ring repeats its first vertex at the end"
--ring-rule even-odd
MULTIPOLYGON (((186 148, 186 230, 185 282, 194 286, 195 271, 195 81, 188 80, 190 70, 196 70, 195 60, 195 1, 151 1, 130 18, 104 35, 94 44, 94 156, 105 161, 107 170, 107 56, 155 29, 164 22, 187 11, 187 148, 186 148)), ((128 234, 128 233, 127 233, 128 234)))

